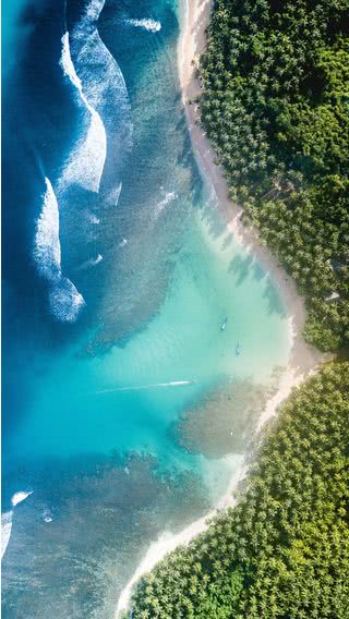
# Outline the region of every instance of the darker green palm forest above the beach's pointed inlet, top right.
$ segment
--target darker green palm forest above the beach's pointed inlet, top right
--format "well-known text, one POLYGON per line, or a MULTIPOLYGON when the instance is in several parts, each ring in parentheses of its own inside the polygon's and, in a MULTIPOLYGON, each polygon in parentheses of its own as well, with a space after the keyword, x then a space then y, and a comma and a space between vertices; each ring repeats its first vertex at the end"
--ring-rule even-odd
POLYGON ((306 296, 305 338, 330 351, 349 345, 348 33, 349 0, 216 0, 200 69, 230 196, 306 296))

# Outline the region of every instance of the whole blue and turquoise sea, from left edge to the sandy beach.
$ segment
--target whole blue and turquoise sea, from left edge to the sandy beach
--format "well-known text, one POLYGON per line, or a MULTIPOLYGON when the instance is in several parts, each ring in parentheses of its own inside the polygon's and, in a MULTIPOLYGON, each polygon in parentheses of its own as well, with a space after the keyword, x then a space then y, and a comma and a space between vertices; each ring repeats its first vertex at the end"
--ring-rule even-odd
POLYGON ((4 618, 113 618, 149 544, 226 493, 288 363, 195 162, 179 10, 3 8, 4 618))

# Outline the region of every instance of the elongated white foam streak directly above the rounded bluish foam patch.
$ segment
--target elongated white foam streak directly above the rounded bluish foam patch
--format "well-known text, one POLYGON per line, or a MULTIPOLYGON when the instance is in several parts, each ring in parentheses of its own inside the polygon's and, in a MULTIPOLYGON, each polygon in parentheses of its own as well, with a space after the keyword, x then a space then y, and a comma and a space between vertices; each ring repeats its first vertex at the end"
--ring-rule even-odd
POLYGON ((34 258, 39 274, 49 281, 56 281, 61 277, 59 209, 49 179, 46 178, 45 183, 43 209, 36 223, 34 258))

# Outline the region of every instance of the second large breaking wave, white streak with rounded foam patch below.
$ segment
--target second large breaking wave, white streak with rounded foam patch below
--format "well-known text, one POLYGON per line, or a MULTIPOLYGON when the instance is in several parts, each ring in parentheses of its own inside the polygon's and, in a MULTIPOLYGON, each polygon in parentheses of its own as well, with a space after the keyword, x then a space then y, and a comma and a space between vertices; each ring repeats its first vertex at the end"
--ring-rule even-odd
POLYGON ((58 320, 72 323, 76 320, 85 302, 75 286, 68 278, 62 277, 59 207, 50 180, 45 178, 45 183, 43 209, 36 224, 34 259, 40 276, 51 284, 49 291, 51 313, 58 320))

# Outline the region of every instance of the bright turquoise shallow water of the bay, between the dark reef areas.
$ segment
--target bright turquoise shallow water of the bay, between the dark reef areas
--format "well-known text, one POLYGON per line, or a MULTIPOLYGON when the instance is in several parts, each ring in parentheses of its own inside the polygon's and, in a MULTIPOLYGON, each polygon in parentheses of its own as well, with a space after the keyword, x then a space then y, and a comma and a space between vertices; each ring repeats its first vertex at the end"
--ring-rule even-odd
POLYGON ((267 384, 285 365, 288 331, 273 284, 229 232, 213 230, 213 217, 214 206, 209 219, 193 215, 158 314, 125 348, 80 359, 75 343, 48 367, 43 359, 43 389, 13 438, 17 452, 143 449, 178 463, 167 427, 181 410, 220 383, 267 384))

